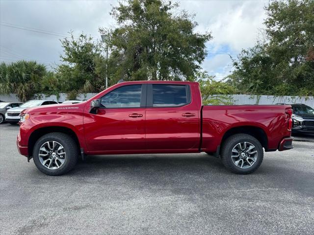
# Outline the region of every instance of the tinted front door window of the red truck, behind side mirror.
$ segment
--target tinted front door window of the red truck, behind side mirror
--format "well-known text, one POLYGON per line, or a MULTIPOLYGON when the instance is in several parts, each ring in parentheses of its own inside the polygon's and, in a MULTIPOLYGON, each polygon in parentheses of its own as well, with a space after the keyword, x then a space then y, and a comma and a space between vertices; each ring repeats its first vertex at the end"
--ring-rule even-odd
POLYGON ((139 108, 142 85, 120 87, 101 98, 105 108, 139 108))

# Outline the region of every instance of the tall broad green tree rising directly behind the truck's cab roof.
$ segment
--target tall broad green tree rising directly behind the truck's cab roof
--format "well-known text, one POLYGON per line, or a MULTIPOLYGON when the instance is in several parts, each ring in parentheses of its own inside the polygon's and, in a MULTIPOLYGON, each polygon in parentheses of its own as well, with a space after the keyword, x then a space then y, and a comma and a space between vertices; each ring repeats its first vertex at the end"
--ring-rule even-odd
POLYGON ((125 80, 179 80, 195 77, 207 52, 210 33, 193 32, 196 22, 178 3, 128 0, 113 7, 117 21, 109 35, 109 77, 125 80))

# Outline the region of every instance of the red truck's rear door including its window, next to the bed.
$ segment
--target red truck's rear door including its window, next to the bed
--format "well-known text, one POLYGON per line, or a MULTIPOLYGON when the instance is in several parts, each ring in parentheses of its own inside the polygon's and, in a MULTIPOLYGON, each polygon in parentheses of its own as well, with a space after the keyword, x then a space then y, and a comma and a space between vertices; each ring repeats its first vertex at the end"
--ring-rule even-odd
POLYGON ((198 115, 189 85, 148 84, 147 149, 197 149, 200 138, 198 115))

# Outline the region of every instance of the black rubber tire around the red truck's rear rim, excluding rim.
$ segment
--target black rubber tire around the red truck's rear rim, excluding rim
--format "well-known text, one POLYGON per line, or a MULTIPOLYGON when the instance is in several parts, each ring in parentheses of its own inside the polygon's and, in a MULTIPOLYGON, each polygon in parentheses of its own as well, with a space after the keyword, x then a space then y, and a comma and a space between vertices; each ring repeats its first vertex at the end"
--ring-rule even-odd
MULTIPOLYGON (((225 165, 225 167, 234 172, 235 174, 250 174, 257 170, 263 161, 263 149, 262 144, 260 141, 258 141, 253 136, 247 135, 247 134, 235 134, 231 137, 229 137, 227 140, 223 142, 222 149, 221 149, 221 159, 222 163, 225 165), (249 166, 248 168, 240 168, 239 166, 236 166, 232 160, 232 150, 235 147, 236 144, 241 142, 249 142, 252 143, 257 151, 257 159, 252 166, 249 166)), ((239 155, 240 156, 240 155, 239 155)), ((252 162, 251 162, 252 163, 252 162)))

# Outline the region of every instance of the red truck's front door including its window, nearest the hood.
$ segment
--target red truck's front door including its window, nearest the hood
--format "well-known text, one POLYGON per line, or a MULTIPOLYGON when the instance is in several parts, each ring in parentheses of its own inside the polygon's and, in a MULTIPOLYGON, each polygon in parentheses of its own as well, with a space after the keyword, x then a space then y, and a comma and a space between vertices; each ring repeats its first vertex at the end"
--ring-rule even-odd
POLYGON ((84 116, 89 151, 145 149, 145 105, 145 84, 126 85, 105 94, 97 114, 84 116))

